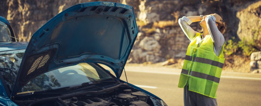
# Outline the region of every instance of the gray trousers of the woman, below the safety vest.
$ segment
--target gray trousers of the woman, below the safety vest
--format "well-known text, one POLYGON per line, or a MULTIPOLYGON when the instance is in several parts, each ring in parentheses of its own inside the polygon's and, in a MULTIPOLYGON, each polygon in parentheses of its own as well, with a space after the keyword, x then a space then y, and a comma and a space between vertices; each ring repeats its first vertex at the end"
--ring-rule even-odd
POLYGON ((217 106, 217 99, 189 91, 188 85, 186 85, 184 87, 184 106, 217 106))

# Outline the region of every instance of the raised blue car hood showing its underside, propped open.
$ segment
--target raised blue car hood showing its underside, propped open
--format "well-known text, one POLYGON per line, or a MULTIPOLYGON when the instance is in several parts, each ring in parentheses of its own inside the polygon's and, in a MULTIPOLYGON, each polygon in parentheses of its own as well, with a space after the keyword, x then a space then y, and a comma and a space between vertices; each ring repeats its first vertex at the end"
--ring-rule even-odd
POLYGON ((90 2, 62 11, 32 35, 10 98, 32 78, 82 62, 105 64, 120 78, 137 33, 128 5, 90 2))

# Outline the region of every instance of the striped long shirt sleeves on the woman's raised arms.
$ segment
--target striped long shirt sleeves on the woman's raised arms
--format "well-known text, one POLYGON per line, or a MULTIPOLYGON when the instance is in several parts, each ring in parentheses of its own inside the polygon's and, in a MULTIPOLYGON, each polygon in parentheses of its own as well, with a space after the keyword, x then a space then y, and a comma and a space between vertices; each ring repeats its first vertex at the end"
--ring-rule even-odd
MULTIPOLYGON (((218 30, 216 26, 216 18, 212 15, 207 16, 205 18, 207 29, 209 30, 209 34, 211 36, 211 39, 213 41, 213 50, 214 53, 219 56, 222 52, 223 44, 225 42, 225 38, 223 34, 218 30)), ((188 39, 191 41, 197 31, 193 30, 189 25, 192 23, 192 21, 187 18, 186 16, 183 16, 179 19, 179 24, 185 35, 188 37, 188 39)))

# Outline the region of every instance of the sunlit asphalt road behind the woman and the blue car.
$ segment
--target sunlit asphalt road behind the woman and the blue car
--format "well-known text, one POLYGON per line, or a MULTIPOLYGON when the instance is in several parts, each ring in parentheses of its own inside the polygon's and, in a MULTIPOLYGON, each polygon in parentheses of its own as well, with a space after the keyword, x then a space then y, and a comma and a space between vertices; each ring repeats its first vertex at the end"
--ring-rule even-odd
MULTIPOLYGON (((128 82, 163 99, 169 106, 183 106, 183 89, 177 88, 181 69, 126 66, 128 82)), ((261 74, 222 72, 217 91, 219 106, 259 106, 261 74)), ((123 72, 122 80, 126 81, 123 72)))

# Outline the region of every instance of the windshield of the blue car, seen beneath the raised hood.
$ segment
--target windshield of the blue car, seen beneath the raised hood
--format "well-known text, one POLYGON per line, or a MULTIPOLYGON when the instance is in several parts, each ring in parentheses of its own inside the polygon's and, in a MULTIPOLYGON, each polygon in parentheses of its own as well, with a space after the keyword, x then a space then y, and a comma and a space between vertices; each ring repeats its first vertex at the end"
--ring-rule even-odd
POLYGON ((23 86, 20 92, 47 91, 108 79, 113 78, 95 64, 80 63, 41 74, 23 86))

